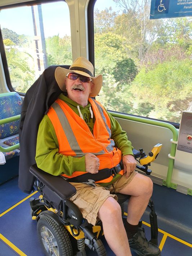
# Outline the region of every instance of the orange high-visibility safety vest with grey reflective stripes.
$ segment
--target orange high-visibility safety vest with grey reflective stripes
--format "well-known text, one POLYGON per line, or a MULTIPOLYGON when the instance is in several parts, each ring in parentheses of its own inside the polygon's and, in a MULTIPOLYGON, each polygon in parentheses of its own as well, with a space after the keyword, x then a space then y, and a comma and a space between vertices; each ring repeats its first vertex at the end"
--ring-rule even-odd
MULTIPOLYGON (((99 158, 99 169, 112 168, 122 159, 121 150, 115 147, 111 139, 111 122, 103 106, 89 98, 95 115, 93 134, 88 125, 64 101, 57 99, 47 115, 51 120, 59 143, 59 153, 67 156, 81 157, 92 153, 99 158)), ((86 172, 75 171, 67 178, 77 177, 86 172)), ((119 172, 123 175, 123 170, 119 172)), ((113 176, 97 182, 110 182, 113 176)))

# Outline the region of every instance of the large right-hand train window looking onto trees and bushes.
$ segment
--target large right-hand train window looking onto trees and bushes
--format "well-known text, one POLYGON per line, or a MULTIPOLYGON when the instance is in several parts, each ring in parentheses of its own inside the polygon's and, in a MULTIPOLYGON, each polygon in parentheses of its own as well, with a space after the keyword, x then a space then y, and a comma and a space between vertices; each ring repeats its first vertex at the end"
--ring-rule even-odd
POLYGON ((149 19, 150 0, 94 5, 98 100, 109 110, 179 123, 192 111, 192 19, 149 19))

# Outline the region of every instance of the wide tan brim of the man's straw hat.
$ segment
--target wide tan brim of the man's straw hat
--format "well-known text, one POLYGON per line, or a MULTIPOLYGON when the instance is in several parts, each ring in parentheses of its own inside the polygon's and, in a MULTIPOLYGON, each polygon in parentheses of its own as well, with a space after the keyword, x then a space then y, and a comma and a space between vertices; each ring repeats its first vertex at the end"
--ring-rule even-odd
POLYGON ((65 84, 65 78, 68 72, 74 72, 76 74, 79 75, 83 75, 83 76, 87 76, 93 79, 93 88, 91 90, 90 93, 90 97, 95 97, 99 94, 101 87, 102 87, 102 83, 103 83, 103 77, 102 75, 98 75, 98 76, 90 76, 89 74, 87 74, 86 72, 83 71, 79 71, 79 70, 69 70, 69 69, 64 69, 63 67, 57 67, 57 69, 55 69, 55 80, 57 81, 59 88, 63 91, 66 92, 66 84, 65 84))

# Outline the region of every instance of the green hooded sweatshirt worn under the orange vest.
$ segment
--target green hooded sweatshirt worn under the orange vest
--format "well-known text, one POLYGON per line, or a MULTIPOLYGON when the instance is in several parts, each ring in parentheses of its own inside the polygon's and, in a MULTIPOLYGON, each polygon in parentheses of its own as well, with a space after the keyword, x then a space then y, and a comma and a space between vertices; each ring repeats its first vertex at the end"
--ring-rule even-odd
MULTIPOLYGON (((88 105, 83 107, 63 94, 60 94, 58 98, 66 102, 77 115, 80 116, 80 113, 82 114, 84 121, 93 134, 95 116, 91 110, 91 104, 88 102, 88 105), (79 107, 77 108, 77 106, 79 107)), ((107 112, 107 114, 110 117, 111 138, 115 141, 115 146, 121 150, 122 156, 133 155, 133 147, 126 136, 126 132, 122 131, 120 124, 115 118, 113 118, 113 116, 110 115, 110 113, 107 112)), ((70 176, 73 172, 79 171, 79 169, 86 172, 85 156, 77 158, 59 154, 57 136, 48 115, 44 115, 39 125, 35 160, 40 169, 54 176, 58 176, 63 173, 70 176)), ((120 174, 117 174, 110 183, 99 184, 108 186, 115 182, 115 180, 120 176, 120 174)))

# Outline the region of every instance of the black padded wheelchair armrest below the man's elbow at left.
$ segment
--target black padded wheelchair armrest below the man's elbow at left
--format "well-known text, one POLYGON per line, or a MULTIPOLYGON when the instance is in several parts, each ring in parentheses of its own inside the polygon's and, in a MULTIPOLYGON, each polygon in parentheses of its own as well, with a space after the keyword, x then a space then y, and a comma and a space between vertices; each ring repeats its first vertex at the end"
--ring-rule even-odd
POLYGON ((62 200, 66 200, 76 194, 76 188, 61 176, 53 176, 42 171, 36 164, 30 167, 30 172, 50 190, 54 191, 62 200))

